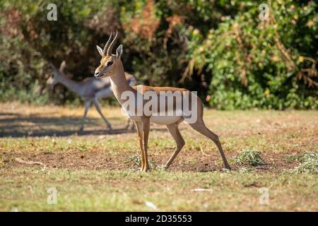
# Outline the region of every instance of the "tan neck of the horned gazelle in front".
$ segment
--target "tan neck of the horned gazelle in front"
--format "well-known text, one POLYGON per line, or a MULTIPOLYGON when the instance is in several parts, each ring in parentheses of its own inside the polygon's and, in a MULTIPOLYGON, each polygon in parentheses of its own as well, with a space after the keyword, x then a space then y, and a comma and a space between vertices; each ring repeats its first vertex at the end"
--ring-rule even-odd
POLYGON ((123 104, 123 102, 126 101, 126 99, 122 99, 122 93, 124 93, 125 91, 136 93, 136 90, 131 88, 126 80, 122 61, 119 61, 117 63, 117 66, 114 69, 114 73, 112 73, 112 76, 110 76, 110 83, 112 84, 114 95, 121 105, 123 104))

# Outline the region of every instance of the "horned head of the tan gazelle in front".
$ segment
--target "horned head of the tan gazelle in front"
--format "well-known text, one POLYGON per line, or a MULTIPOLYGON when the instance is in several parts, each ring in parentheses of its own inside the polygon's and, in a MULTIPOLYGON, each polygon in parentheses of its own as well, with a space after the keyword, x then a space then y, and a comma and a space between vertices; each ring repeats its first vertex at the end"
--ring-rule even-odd
POLYGON ((100 60, 100 66, 98 66, 98 68, 95 70, 96 78, 112 76, 112 73, 114 73, 114 69, 116 69, 118 64, 122 62, 120 59, 120 57, 122 56, 122 44, 119 45, 119 47, 117 48, 116 54, 112 54, 112 48, 114 47, 114 44, 117 40, 117 35, 118 32, 116 31, 116 35, 112 40, 112 33, 110 33, 110 38, 106 42, 104 49, 96 46, 98 52, 102 56, 102 59, 100 60), (110 42, 111 40, 112 42, 110 42))

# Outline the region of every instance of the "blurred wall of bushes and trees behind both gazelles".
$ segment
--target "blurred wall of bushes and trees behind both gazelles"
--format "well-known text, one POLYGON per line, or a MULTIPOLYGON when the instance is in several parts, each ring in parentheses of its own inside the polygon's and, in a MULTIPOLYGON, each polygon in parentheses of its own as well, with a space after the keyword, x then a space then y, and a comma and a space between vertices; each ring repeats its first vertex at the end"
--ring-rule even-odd
POLYGON ((317 109, 316 1, 0 1, 0 101, 78 104, 49 90, 49 63, 93 76, 119 30, 125 70, 146 85, 198 91, 217 109, 317 109), (47 5, 57 4, 57 21, 47 5), (269 20, 259 5, 270 4, 269 20))

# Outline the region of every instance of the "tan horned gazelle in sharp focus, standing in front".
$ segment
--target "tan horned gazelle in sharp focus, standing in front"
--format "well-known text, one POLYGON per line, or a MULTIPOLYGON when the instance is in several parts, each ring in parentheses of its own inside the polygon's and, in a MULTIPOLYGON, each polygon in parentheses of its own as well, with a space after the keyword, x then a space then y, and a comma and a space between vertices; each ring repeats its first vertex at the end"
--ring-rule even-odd
MULTIPOLYGON (((151 87, 146 85, 139 85, 131 87, 126 79, 125 73, 124 73, 124 66, 122 64, 121 56, 122 56, 122 44, 119 45, 117 48, 116 54, 112 54, 112 49, 114 47, 114 43, 117 40, 117 33, 112 42, 110 43, 110 40, 112 38, 112 34, 110 35, 109 40, 107 41, 107 44, 105 47, 107 47, 107 52, 104 52, 102 54, 102 59, 100 61, 100 66, 95 70, 95 77, 96 78, 102 78, 102 77, 110 77, 110 82, 112 84, 112 90, 114 91, 114 95, 119 101, 119 103, 122 105, 124 110, 129 114, 129 117, 135 122, 137 134, 139 138, 139 145, 141 149, 141 171, 146 172, 149 169, 148 164, 148 134, 150 131, 150 123, 153 122, 155 124, 162 124, 167 126, 167 130, 170 132, 172 137, 175 139, 176 148, 170 159, 165 164, 165 169, 170 166, 171 162, 175 160, 175 157, 178 155, 182 147, 184 146, 184 139, 182 138, 178 125, 182 121, 189 121, 186 117, 185 112, 183 112, 184 109, 177 109, 176 102, 173 102, 172 105, 167 105, 166 102, 164 102, 164 105, 161 106, 160 102, 163 102, 163 99, 160 98, 161 92, 169 92, 173 94, 175 93, 181 93, 182 96, 186 95, 186 93, 189 91, 182 88, 171 88, 171 87, 151 87), (108 44, 110 45, 108 46, 108 44), (159 109, 155 109, 155 107, 149 108, 149 111, 144 111, 143 107, 145 107, 146 102, 142 100, 141 102, 138 101, 138 96, 140 95, 146 95, 148 92, 151 93, 153 97, 153 93, 155 96, 154 99, 158 101, 158 105, 160 105, 159 109), (129 107, 126 106, 126 99, 128 95, 133 95, 134 101, 132 102, 132 105, 129 107), (137 100, 137 101, 136 101, 137 100), (132 109, 130 109, 132 108, 132 109), (173 115, 171 116, 168 112, 169 109, 173 108, 175 112, 179 111, 181 114, 179 115, 173 115), (141 114, 136 114, 136 109, 143 109, 141 114), (167 114, 159 114, 158 110, 162 111, 163 113, 167 114)), ((191 95, 191 99, 189 102, 196 102, 195 105, 195 111, 196 111, 196 120, 189 123, 190 126, 199 133, 203 134, 204 136, 211 138, 211 140, 216 143, 218 150, 220 151, 220 155, 223 159, 223 163, 227 169, 230 169, 230 165, 228 164, 228 161, 226 160, 225 154, 223 152, 222 145, 218 139, 218 136, 210 131, 206 125, 204 124, 203 120, 203 104, 199 97, 196 95, 191 95)), ((184 102, 184 99, 182 99, 182 105, 187 105, 189 103, 184 102)), ((180 105, 178 105, 180 106, 180 105)))

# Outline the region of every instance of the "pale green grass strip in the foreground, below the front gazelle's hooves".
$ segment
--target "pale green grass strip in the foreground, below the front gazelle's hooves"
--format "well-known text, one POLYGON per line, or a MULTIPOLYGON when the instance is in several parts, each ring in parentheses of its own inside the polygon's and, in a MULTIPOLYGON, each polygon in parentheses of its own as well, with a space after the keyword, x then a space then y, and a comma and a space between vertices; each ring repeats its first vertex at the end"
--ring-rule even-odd
POLYGON ((241 174, 240 172, 90 171, 15 169, 1 172, 4 211, 33 210, 317 210, 317 179, 312 174, 241 174), (304 183, 306 182, 306 183, 304 183), (6 184, 6 185, 4 185, 6 184), (47 190, 57 189, 57 204, 47 190), (259 203, 269 188, 269 205, 259 203), (204 188, 211 191, 192 191, 204 188), (293 198, 291 198, 293 197, 293 198))

